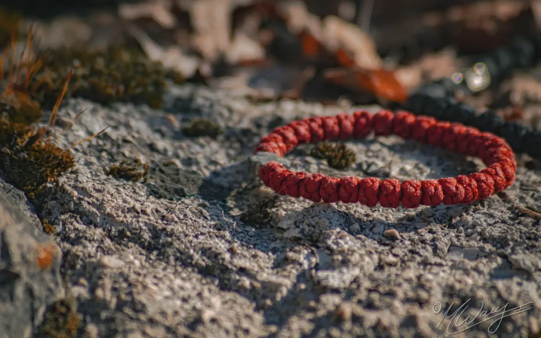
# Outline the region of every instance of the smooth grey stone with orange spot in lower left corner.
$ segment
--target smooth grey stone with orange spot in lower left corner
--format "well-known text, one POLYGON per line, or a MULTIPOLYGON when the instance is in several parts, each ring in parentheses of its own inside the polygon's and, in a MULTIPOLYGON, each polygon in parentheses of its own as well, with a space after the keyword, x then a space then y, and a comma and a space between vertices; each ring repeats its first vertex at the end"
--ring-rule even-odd
POLYGON ((27 203, 21 191, 0 178, 2 338, 30 337, 45 308, 64 294, 60 248, 37 228, 41 223, 27 203))

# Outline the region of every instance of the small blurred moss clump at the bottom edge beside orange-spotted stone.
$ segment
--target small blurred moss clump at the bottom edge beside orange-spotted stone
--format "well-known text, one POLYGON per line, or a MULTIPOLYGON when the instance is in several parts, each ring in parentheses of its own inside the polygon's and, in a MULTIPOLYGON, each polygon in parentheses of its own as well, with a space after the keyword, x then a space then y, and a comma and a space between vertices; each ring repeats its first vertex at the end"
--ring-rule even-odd
POLYGON ((52 303, 46 310, 37 336, 44 338, 72 338, 80 325, 74 297, 52 303))

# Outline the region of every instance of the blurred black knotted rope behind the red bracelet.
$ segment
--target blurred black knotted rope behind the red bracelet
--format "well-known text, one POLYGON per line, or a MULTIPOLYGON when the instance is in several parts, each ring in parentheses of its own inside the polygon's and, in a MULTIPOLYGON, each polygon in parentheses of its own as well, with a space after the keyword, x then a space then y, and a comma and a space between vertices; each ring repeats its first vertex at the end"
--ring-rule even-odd
MULTIPOLYGON (((478 58, 472 65, 484 64, 490 74, 491 86, 496 87, 513 70, 530 67, 540 61, 541 32, 535 32, 531 36, 514 38, 509 44, 478 58)), ((475 108, 454 99, 457 90, 471 94, 464 81, 456 84, 451 78, 436 79, 422 85, 401 108, 413 114, 430 115, 438 120, 459 122, 492 132, 505 138, 516 153, 526 153, 541 161, 541 130, 517 121, 504 121, 491 109, 478 115, 475 108)))

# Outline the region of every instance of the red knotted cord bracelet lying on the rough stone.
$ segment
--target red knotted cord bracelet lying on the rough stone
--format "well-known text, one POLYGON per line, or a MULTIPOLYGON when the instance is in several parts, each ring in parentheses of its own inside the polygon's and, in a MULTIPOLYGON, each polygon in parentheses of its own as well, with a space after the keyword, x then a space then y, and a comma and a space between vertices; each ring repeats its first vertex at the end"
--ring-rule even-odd
POLYGON ((425 181, 380 180, 375 177, 329 177, 286 169, 276 161, 261 165, 263 183, 280 195, 304 197, 313 202, 361 203, 375 207, 417 208, 419 205, 472 203, 499 193, 514 182, 517 162, 510 145, 490 132, 473 127, 436 121, 429 116, 415 116, 383 110, 372 115, 357 111, 353 115, 311 117, 274 129, 261 139, 255 153, 269 152, 282 157, 300 143, 324 140, 398 135, 422 143, 481 158, 488 168, 479 173, 425 181))

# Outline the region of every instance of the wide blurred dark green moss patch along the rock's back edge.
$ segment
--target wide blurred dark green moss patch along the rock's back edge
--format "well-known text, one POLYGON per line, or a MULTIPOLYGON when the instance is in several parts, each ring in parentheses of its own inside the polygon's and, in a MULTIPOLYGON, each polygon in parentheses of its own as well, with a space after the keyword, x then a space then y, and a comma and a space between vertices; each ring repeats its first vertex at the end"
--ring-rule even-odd
POLYGON ((32 97, 51 107, 62 91, 64 78, 72 69, 66 97, 83 97, 101 104, 115 101, 148 104, 160 108, 167 79, 175 83, 183 77, 151 62, 138 50, 111 47, 104 51, 73 48, 49 50, 43 67, 31 83, 32 97))

